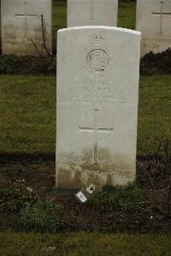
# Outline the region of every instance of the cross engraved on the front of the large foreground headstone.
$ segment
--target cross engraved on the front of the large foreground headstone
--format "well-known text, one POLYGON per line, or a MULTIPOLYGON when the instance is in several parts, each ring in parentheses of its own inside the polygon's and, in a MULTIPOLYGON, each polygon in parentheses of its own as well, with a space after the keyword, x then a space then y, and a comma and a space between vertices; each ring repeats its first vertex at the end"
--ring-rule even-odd
POLYGON ((82 127, 79 126, 80 132, 94 133, 94 146, 93 146, 93 164, 97 164, 97 133, 113 133, 114 128, 112 127, 97 127, 97 109, 94 110, 94 126, 93 127, 82 127))

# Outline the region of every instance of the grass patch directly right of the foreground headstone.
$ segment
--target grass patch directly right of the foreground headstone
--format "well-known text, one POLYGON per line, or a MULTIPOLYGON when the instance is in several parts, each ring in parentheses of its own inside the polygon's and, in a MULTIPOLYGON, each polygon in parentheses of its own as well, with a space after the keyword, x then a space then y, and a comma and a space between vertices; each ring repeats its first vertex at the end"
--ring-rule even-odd
POLYGON ((170 85, 171 75, 141 77, 139 87, 139 154, 156 152, 159 144, 166 142, 166 140, 171 143, 170 85))

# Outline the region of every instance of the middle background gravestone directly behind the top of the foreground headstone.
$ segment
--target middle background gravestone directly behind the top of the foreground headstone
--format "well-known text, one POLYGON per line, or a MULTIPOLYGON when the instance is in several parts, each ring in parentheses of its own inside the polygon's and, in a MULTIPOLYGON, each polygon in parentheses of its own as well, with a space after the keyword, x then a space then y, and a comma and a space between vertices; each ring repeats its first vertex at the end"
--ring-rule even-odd
POLYGON ((118 0, 68 0, 68 27, 117 26, 118 0))

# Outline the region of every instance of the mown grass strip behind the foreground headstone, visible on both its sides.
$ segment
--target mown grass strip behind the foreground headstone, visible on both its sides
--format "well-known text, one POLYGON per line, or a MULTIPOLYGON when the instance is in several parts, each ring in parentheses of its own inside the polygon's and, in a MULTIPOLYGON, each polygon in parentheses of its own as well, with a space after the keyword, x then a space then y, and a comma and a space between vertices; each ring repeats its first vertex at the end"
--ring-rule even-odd
MULTIPOLYGON (((155 152, 170 140, 171 76, 141 77, 138 154, 155 152)), ((55 153, 56 78, 0 78, 0 152, 55 153)))

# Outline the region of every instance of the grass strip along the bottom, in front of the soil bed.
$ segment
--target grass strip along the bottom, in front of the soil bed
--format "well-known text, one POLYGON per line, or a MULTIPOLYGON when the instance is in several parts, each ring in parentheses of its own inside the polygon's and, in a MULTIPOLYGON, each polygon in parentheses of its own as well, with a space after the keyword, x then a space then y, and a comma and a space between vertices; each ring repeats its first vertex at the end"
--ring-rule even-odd
POLYGON ((0 255, 170 255, 171 236, 0 233, 0 255), (48 247, 56 251, 45 252, 48 247))

